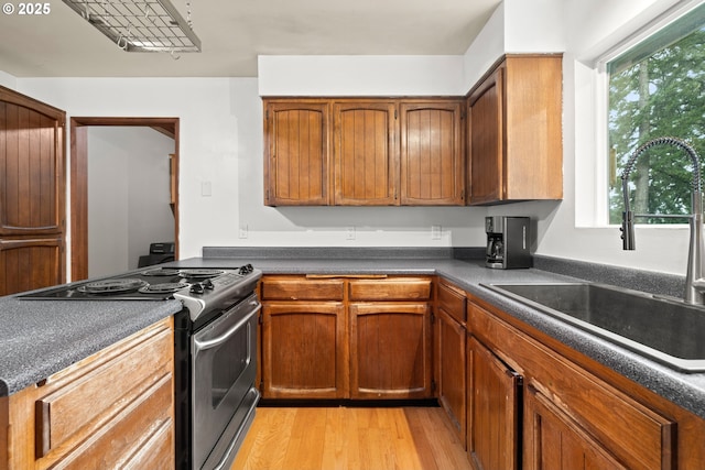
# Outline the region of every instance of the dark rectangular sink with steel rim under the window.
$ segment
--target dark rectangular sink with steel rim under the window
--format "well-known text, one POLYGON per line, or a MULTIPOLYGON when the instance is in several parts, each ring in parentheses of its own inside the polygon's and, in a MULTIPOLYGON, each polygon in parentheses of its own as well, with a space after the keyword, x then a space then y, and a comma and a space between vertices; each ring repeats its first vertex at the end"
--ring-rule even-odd
POLYGON ((705 308, 596 283, 482 284, 684 372, 705 371, 705 308))

